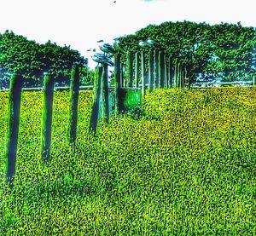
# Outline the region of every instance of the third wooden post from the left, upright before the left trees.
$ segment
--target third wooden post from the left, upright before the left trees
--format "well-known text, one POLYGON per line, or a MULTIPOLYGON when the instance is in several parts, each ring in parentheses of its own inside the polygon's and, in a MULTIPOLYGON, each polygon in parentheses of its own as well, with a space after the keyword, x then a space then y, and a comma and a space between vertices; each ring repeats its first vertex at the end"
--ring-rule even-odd
POLYGON ((70 116, 68 135, 69 142, 73 143, 77 138, 78 124, 78 105, 79 105, 79 66, 73 66, 71 71, 70 83, 70 116))

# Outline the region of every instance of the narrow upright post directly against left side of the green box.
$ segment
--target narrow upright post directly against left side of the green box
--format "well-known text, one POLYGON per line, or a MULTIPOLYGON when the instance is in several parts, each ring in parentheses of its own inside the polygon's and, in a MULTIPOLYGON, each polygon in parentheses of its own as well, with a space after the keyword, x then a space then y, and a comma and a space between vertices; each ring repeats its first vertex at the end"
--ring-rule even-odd
POLYGON ((121 89, 121 56, 114 55, 114 89, 115 89, 115 114, 119 113, 119 95, 121 89))

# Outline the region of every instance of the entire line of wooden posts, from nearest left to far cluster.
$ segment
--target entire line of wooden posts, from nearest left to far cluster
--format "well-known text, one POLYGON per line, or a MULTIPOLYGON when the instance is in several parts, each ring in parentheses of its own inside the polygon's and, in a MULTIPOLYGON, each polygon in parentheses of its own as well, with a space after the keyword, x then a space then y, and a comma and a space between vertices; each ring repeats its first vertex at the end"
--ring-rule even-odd
MULTIPOLYGON (((121 55, 114 58, 114 90, 115 90, 115 113, 120 111, 122 106, 120 101, 121 89, 137 88, 142 90, 142 96, 146 93, 146 83, 148 92, 156 88, 184 88, 187 81, 186 67, 180 63, 172 66, 172 61, 166 59, 162 51, 150 50, 148 53, 148 70, 145 65, 145 55, 141 53, 127 53, 127 67, 124 78, 121 65, 121 55)), ((17 144, 19 135, 20 120, 20 99, 21 99, 22 76, 14 74, 10 82, 9 91, 9 112, 8 112, 8 133, 6 143, 6 177, 9 186, 12 187, 15 176, 15 163, 17 154, 17 144)), ((51 128, 53 114, 54 78, 49 75, 44 76, 44 107, 42 118, 41 135, 41 157, 44 161, 50 158, 51 128)), ((73 67, 70 83, 70 118, 68 126, 68 139, 74 144, 77 137, 78 122, 78 102, 79 102, 79 68, 73 67)), ((108 123, 109 88, 108 88, 108 65, 99 65, 96 71, 94 84, 94 101, 90 117, 90 131, 96 133, 98 118, 108 123)))

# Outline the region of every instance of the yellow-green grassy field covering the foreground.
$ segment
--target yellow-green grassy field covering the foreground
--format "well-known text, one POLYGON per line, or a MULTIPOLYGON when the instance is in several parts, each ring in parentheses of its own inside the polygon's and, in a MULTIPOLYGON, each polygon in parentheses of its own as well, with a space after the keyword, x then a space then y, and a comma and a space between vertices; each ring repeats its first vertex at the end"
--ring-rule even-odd
MULTIPOLYGON (((43 94, 24 92, 13 193, 0 189, 1 235, 255 235, 256 88, 161 89, 143 116, 88 134, 92 94, 54 98, 52 158, 40 160, 43 94)), ((0 92, 0 177, 8 94, 0 92)))

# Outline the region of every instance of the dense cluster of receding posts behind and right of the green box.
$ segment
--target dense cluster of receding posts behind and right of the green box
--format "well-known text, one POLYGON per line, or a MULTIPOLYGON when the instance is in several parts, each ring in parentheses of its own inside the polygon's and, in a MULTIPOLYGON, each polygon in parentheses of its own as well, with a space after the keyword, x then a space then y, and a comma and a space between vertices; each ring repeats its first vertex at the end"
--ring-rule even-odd
MULTIPOLYGON (((115 57, 119 58, 120 55, 115 55, 115 57)), ((143 95, 146 84, 149 92, 157 88, 189 88, 188 69, 181 62, 171 60, 163 51, 153 49, 148 52, 147 65, 145 57, 144 52, 127 53, 125 73, 120 75, 122 88, 141 87, 143 95)), ((115 66, 117 63, 122 72, 121 61, 115 60, 115 66)))

